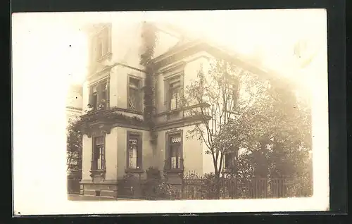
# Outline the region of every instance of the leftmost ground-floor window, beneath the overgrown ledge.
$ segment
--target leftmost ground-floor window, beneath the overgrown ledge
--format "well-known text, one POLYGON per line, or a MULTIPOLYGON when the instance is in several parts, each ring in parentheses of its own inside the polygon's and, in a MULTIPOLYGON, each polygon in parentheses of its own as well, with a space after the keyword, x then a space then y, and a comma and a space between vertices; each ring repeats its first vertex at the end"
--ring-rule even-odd
POLYGON ((94 137, 92 151, 92 170, 105 170, 105 138, 94 137))

